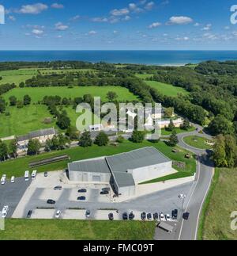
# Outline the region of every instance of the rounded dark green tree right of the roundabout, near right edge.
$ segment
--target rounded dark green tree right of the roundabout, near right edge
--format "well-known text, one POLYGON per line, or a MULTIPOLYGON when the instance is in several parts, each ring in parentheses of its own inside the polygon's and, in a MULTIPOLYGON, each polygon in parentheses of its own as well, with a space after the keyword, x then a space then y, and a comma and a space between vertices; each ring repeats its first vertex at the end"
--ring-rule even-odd
POLYGON ((209 124, 209 131, 212 133, 213 136, 219 134, 227 135, 234 133, 234 127, 231 121, 229 121, 222 115, 218 115, 209 124))

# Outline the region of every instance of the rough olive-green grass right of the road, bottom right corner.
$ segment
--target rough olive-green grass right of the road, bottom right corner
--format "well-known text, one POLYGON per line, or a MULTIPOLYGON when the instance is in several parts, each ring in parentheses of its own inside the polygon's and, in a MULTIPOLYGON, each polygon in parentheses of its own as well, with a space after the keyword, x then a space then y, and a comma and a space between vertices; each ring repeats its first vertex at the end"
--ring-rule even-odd
POLYGON ((231 230, 231 212, 237 210, 237 169, 216 169, 215 176, 199 239, 236 240, 237 232, 231 230))

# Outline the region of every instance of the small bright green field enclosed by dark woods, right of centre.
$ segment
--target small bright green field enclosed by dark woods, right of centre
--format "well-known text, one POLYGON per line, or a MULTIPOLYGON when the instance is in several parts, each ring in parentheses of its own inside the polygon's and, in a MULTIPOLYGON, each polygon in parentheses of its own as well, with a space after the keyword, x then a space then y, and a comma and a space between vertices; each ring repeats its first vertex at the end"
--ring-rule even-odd
POLYGON ((172 86, 163 82, 145 81, 149 86, 158 90, 161 94, 176 97, 178 94, 188 95, 189 93, 181 87, 172 86))

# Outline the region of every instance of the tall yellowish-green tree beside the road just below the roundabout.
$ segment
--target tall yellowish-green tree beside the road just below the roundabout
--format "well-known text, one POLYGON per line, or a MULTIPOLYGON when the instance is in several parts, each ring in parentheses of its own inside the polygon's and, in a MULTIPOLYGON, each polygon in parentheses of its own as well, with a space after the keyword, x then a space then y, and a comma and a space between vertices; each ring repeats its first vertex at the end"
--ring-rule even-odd
POLYGON ((225 139, 223 135, 216 136, 213 147, 213 161, 217 167, 226 167, 225 139))

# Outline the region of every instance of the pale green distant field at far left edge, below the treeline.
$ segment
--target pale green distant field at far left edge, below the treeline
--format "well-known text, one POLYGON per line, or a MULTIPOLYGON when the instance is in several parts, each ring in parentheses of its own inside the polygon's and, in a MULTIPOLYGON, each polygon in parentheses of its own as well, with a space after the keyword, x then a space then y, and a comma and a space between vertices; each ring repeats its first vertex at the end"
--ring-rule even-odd
POLYGON ((1 84, 5 83, 15 83, 17 86, 21 82, 25 82, 25 80, 32 78, 32 76, 38 75, 37 69, 20 69, 16 71, 0 71, 0 76, 2 80, 0 81, 1 84))

